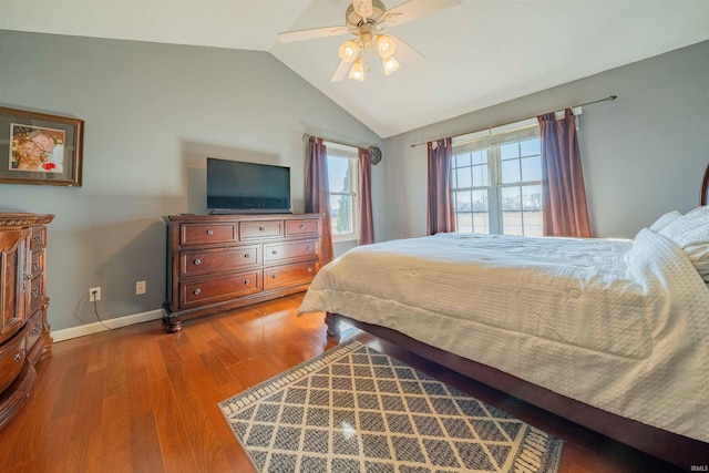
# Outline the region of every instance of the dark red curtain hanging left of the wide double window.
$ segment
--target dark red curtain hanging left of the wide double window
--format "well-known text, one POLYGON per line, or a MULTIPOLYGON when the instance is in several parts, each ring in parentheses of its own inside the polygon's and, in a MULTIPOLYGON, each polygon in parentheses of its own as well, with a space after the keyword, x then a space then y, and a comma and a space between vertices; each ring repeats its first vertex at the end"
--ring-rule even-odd
POLYGON ((451 202, 452 140, 428 143, 429 147, 429 205, 428 235, 455 232, 455 215, 451 202))

